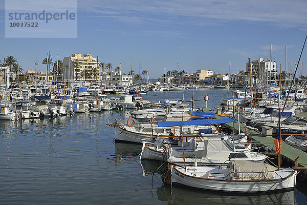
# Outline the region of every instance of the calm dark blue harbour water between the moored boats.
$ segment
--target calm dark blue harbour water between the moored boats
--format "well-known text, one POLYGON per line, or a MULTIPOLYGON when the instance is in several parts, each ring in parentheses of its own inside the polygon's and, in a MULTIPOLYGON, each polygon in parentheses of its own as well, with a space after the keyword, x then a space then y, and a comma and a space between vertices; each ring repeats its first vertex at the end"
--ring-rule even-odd
MULTIPOLYGON (((164 100, 164 92, 145 99, 164 100)), ((195 107, 214 108, 227 90, 195 90, 195 107)), ((182 98, 168 92, 166 98, 182 98)), ((185 100, 192 91, 185 91, 185 100)), ((0 120, 0 204, 306 204, 300 191, 270 195, 227 195, 164 187, 153 162, 141 165, 141 146, 114 144, 114 117, 128 112, 72 117, 0 120), (142 170, 142 168, 144 170, 142 170)), ((163 169, 163 167, 162 167, 163 169)))

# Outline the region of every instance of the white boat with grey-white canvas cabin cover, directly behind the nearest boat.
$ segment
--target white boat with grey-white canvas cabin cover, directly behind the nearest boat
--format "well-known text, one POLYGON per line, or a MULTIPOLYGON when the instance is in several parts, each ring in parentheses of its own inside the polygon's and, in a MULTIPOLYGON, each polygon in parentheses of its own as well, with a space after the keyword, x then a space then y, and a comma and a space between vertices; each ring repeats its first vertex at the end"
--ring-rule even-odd
POLYGON ((190 137, 182 142, 172 139, 169 142, 157 139, 155 143, 143 142, 140 155, 141 160, 169 161, 177 165, 226 166, 225 161, 249 160, 264 161, 267 157, 262 153, 252 152, 250 149, 237 150, 227 139, 218 136, 216 131, 208 137, 190 137), (184 151, 183 151, 184 150, 184 151), (183 157, 185 156, 185 158, 183 157))

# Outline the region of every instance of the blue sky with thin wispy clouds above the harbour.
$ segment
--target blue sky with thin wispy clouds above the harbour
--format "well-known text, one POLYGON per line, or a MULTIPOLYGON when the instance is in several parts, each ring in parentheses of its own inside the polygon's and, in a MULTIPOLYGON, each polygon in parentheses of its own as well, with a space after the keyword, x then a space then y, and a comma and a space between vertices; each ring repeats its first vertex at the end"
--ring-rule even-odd
POLYGON ((121 63, 125 73, 131 59, 136 73, 141 63, 152 78, 177 63, 187 72, 227 73, 231 62, 235 73, 245 70, 248 57, 268 58, 270 44, 284 70, 284 47, 294 68, 307 34, 306 1, 89 0, 78 1, 77 38, 5 38, 0 2, 0 60, 12 55, 24 70, 33 69, 38 55, 45 71, 40 62, 50 51, 53 59, 92 53, 114 67, 121 63))

